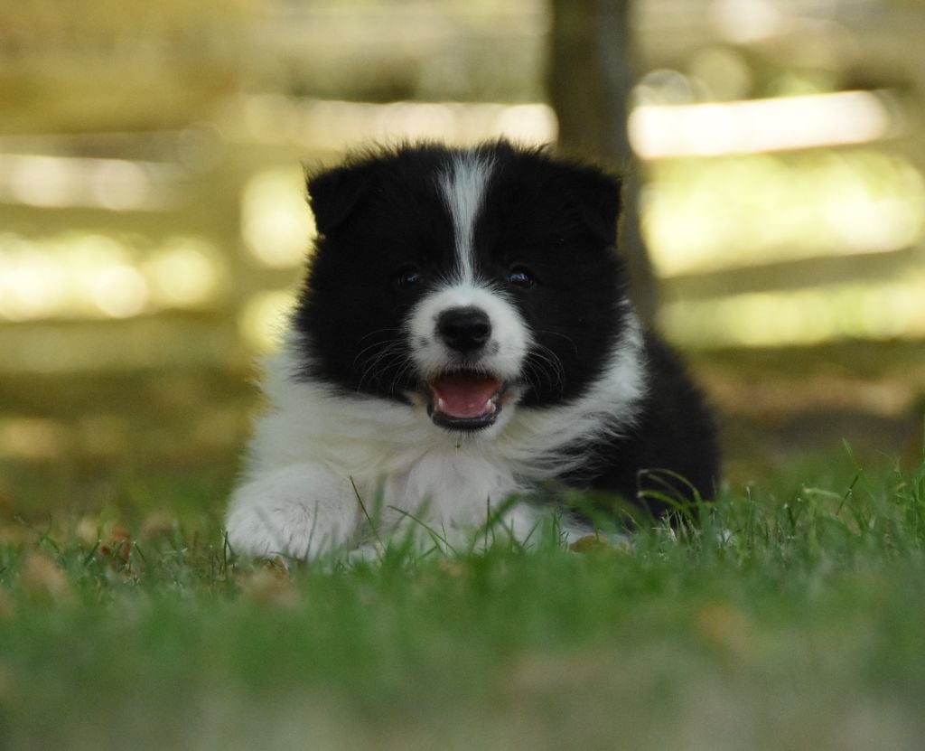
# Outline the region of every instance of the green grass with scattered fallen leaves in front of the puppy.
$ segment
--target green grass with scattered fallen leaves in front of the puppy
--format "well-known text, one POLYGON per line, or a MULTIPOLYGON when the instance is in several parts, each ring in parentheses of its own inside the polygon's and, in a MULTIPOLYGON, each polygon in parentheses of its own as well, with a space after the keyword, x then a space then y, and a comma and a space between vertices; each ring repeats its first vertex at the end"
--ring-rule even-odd
POLYGON ((925 737, 925 463, 730 491, 698 529, 580 552, 547 530, 530 551, 391 548, 287 572, 233 560, 202 514, 2 532, 2 748, 925 737))

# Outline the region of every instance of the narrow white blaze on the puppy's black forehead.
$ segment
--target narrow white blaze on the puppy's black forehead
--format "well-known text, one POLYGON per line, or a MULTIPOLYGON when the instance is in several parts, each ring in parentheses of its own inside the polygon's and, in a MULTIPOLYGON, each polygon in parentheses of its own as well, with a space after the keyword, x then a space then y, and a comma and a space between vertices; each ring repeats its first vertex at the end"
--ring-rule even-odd
POLYGON ((453 222, 459 276, 464 281, 475 278, 475 219, 491 176, 491 167, 490 157, 463 152, 455 154, 450 165, 440 175, 440 189, 453 222))

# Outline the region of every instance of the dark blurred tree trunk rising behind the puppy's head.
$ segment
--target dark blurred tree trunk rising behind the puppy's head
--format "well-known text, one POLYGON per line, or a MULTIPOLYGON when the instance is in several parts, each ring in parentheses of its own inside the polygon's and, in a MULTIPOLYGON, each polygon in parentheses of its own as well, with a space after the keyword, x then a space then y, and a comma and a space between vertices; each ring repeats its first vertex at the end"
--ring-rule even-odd
POLYGON ((623 174, 618 246, 636 307, 651 321, 658 294, 639 227, 639 178, 626 132, 635 83, 630 6, 631 0, 552 0, 548 87, 562 148, 623 174))

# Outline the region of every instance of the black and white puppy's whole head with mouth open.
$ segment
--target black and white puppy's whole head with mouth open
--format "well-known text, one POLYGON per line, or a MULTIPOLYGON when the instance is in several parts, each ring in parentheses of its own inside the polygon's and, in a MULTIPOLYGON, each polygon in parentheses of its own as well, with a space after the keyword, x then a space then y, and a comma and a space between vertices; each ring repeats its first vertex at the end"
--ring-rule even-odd
POLYGON ((580 396, 623 328, 619 191, 506 142, 404 147, 310 179, 302 375, 456 433, 580 396))

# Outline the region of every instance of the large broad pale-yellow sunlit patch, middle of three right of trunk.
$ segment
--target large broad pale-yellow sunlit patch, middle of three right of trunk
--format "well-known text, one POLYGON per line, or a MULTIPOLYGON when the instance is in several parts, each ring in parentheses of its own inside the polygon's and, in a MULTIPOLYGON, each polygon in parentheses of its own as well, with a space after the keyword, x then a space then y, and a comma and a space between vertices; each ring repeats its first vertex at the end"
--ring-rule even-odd
POLYGON ((640 203, 665 277, 894 251, 925 235, 919 169, 871 150, 659 162, 640 203))

